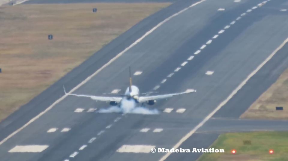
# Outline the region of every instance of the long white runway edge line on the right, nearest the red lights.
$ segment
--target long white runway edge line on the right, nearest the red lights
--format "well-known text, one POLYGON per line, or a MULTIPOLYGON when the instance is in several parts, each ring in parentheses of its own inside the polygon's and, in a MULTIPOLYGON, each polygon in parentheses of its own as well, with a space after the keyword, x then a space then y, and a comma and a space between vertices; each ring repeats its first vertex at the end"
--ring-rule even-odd
MULTIPOLYGON (((181 138, 179 140, 179 142, 177 142, 176 145, 173 146, 173 148, 177 149, 179 148, 179 146, 186 141, 190 136, 192 136, 193 133, 196 132, 196 130, 198 130, 200 127, 202 127, 205 122, 207 122, 222 106, 224 106, 246 83, 247 81, 254 76, 286 43, 288 42, 288 37, 286 38, 286 40, 277 47, 277 49, 275 49, 255 70, 252 71, 252 73, 250 73, 246 79, 244 79, 233 91, 232 93, 225 99, 223 100, 223 102, 221 102, 216 109, 214 109, 208 116, 206 116, 204 118, 204 120, 202 120, 196 127, 194 127, 189 133, 187 133, 183 138, 181 138)), ((171 152, 166 153, 159 161, 164 161, 165 159, 167 159, 169 156, 171 155, 171 152)))

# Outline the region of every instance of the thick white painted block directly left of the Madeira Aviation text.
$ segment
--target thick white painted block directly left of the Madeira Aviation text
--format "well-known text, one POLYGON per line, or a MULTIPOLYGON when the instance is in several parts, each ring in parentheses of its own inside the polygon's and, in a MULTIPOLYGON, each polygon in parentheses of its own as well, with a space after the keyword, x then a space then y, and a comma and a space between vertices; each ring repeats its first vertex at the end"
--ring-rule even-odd
POLYGON ((154 145, 122 145, 117 152, 119 153, 150 153, 154 145))

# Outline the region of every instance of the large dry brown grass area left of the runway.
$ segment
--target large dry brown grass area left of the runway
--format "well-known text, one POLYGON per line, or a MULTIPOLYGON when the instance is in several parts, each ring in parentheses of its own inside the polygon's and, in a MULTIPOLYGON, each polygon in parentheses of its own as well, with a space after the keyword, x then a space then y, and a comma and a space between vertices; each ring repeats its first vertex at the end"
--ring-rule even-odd
POLYGON ((29 4, 0 12, 0 120, 170 3, 29 4), (98 9, 97 13, 92 8, 98 9), (48 40, 53 34, 53 40, 48 40))

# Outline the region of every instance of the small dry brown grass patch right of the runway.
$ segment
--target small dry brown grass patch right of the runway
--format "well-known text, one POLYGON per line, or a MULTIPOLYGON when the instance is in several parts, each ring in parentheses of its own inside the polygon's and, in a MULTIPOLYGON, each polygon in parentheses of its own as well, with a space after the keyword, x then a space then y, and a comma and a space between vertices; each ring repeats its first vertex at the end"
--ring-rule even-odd
POLYGON ((241 115, 241 118, 288 119, 288 69, 241 115), (275 107, 282 106, 283 111, 275 107))

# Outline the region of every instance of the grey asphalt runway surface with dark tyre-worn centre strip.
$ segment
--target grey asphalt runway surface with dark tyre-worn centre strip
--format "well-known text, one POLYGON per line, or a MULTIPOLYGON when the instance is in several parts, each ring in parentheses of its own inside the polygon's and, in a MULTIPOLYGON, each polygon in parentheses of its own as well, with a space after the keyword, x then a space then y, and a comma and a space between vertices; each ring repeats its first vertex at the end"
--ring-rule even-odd
MULTIPOLYGON (((178 1, 108 44, 30 104, 1 122, 1 140, 60 98, 63 84, 70 91, 153 26, 194 3, 196 1, 178 1)), ((133 83, 140 92, 164 94, 195 88, 196 93, 159 101, 149 107, 159 109, 159 115, 97 113, 109 105, 87 98, 65 97, 25 128, 1 141, 1 160, 141 161, 166 157, 166 160, 196 160, 201 154, 174 153, 163 158, 163 153, 122 153, 121 147, 150 145, 172 148, 181 143, 182 148, 207 148, 220 133, 228 131, 287 130, 285 121, 238 120, 249 103, 286 69, 287 45, 213 117, 207 118, 286 40, 288 12, 281 10, 287 6, 285 0, 206 0, 164 20, 73 93, 101 95, 114 89, 124 92, 128 86, 129 66, 132 73, 142 71, 133 76, 133 83), (205 118, 208 121, 196 133, 184 139, 183 143, 179 142, 205 118), (275 124, 277 126, 273 126, 275 124), (11 152, 16 145, 48 147, 37 153, 11 152)))

